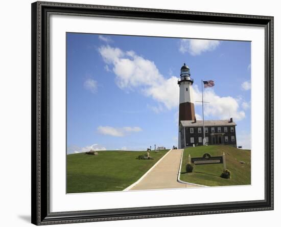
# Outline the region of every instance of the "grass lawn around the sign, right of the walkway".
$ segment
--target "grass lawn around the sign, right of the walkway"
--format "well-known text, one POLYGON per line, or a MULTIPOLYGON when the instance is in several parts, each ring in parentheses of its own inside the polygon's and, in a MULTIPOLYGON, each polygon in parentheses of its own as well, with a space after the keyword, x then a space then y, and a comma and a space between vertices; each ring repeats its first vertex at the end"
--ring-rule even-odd
POLYGON ((206 186, 250 185, 251 151, 224 145, 186 148, 182 158, 180 179, 206 186), (221 156, 223 152, 226 158, 226 168, 231 172, 231 179, 220 177, 223 164, 194 165, 192 173, 185 172, 189 154, 191 157, 202 157, 204 153, 209 153, 211 156, 221 156), (241 164, 240 161, 245 164, 241 164))

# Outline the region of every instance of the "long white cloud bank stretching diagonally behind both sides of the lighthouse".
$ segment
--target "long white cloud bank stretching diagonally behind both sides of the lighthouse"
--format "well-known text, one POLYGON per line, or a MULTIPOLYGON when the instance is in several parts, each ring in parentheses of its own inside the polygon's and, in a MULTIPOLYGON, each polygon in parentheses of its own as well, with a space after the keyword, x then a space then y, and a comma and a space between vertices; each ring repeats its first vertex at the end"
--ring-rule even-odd
MULTIPOLYGON (((148 107, 155 112, 162 111, 163 107, 167 109, 178 107, 177 77, 171 76, 168 79, 163 77, 153 61, 140 57, 133 51, 124 52, 119 48, 102 46, 99 48, 99 52, 106 63, 113 65, 113 72, 116 75, 115 81, 121 89, 138 89, 142 94, 153 98, 159 103, 158 106, 148 107)), ((201 100, 198 86, 194 85, 193 87, 194 100, 201 100)), ((206 116, 215 119, 232 117, 236 121, 245 118, 245 112, 240 110, 237 99, 230 96, 220 97, 212 88, 205 89, 204 97, 206 97, 205 101, 210 102, 204 105, 206 116)), ((195 105, 200 105, 200 103, 195 102, 195 105)), ((178 121, 178 113, 175 121, 178 121)))

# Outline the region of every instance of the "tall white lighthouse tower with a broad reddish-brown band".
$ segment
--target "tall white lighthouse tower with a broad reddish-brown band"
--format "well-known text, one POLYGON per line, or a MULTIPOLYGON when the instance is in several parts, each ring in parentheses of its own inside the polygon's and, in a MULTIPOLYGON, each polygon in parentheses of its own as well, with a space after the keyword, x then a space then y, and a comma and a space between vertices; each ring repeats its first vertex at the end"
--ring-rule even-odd
MULTIPOLYGON (((193 99, 193 79, 190 77, 190 69, 185 63, 180 69, 179 85, 179 125, 180 121, 195 120, 194 99, 193 99)), ((178 138, 178 148, 180 145, 180 128, 178 138)))

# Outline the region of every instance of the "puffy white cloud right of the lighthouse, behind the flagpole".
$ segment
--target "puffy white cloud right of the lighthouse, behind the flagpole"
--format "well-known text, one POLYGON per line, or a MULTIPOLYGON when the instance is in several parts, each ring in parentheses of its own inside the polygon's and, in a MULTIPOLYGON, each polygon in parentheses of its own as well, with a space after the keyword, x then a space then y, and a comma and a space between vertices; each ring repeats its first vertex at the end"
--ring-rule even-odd
MULTIPOLYGON (((194 100, 201 100, 201 92, 198 86, 194 86, 194 100)), ((204 90, 204 101, 209 102, 204 104, 204 116, 215 119, 229 119, 233 118, 239 121, 245 118, 245 112, 239 108, 239 99, 231 96, 220 97, 214 89, 206 88, 204 90)), ((202 105, 195 102, 195 105, 202 105)))

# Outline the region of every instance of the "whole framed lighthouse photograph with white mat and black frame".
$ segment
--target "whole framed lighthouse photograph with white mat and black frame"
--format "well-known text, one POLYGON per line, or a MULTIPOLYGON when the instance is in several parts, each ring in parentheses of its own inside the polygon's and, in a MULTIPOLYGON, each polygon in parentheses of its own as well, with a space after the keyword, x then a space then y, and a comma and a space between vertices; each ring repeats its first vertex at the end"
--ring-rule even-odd
POLYGON ((32 4, 32 223, 273 210, 273 17, 32 4))

